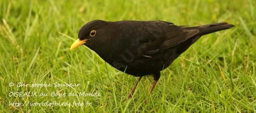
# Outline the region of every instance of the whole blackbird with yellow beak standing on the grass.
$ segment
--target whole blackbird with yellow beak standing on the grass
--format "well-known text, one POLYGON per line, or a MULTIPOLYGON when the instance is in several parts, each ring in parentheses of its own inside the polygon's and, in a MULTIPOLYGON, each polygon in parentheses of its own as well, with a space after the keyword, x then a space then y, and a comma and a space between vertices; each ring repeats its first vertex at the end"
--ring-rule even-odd
POLYGON ((138 76, 128 98, 142 76, 153 74, 152 93, 160 71, 170 66, 201 36, 234 27, 215 23, 196 27, 177 26, 165 21, 93 20, 79 30, 71 49, 85 45, 116 69, 138 76))

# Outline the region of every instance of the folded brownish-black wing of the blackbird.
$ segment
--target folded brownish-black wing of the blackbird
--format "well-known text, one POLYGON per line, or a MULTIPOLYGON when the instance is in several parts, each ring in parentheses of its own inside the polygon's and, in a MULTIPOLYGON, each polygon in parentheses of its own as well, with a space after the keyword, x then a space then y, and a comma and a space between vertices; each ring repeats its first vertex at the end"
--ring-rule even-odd
POLYGON ((148 42, 142 41, 145 48, 143 52, 144 55, 162 52, 168 48, 177 46, 199 32, 199 30, 186 30, 173 24, 164 25, 164 27, 161 25, 156 27, 156 25, 154 25, 148 30, 150 36, 145 36, 144 38, 146 39, 143 39, 147 40, 147 38, 150 38, 155 40, 149 40, 148 42))

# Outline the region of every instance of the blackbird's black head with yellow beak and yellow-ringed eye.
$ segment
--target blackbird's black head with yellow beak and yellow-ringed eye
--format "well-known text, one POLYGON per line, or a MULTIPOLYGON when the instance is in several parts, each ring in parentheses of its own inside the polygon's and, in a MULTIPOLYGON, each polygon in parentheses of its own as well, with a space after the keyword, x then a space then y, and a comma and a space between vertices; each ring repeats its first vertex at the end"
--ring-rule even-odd
MULTIPOLYGON (((78 32, 78 39, 71 45, 70 50, 80 45, 100 46, 100 42, 104 40, 104 34, 106 29, 104 27, 108 25, 108 22, 103 20, 93 20, 88 22, 78 32)), ((92 49, 92 48, 91 48, 92 49)))

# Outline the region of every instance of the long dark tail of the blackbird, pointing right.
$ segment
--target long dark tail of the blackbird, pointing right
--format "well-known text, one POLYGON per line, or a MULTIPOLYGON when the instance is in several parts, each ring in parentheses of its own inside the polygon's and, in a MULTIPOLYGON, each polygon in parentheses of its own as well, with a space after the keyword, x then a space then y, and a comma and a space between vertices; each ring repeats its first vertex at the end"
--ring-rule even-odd
POLYGON ((212 32, 218 32, 221 30, 229 29, 231 27, 234 27, 234 25, 228 24, 228 23, 214 23, 214 24, 207 24, 207 25, 201 25, 196 27, 184 27, 184 29, 192 30, 196 29, 199 30, 199 33, 196 34, 197 36, 203 36, 212 32))

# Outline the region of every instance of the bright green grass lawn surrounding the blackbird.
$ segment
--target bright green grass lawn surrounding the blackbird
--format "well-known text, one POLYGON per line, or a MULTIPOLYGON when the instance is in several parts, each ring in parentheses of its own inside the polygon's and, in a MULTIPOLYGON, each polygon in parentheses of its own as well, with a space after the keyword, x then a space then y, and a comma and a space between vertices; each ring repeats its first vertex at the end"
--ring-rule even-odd
POLYGON ((2 112, 256 112, 256 1, 23 1, 0 0, 2 112), (106 64, 85 46, 70 51, 85 23, 101 19, 164 20, 176 25, 228 22, 235 27, 203 36, 153 78, 106 64), (79 87, 9 87, 9 83, 81 83, 79 87), (101 96, 13 97, 10 92, 100 92, 101 96), (91 102, 78 106, 9 106, 11 102, 91 102))

